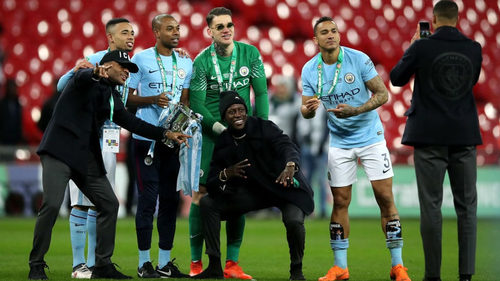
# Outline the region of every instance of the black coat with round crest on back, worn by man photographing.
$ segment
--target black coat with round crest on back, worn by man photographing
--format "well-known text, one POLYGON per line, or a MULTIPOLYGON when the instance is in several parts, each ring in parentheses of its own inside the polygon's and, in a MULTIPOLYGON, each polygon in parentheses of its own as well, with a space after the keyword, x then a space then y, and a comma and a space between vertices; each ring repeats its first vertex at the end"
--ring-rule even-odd
POLYGON ((399 87, 415 75, 401 143, 482 144, 472 94, 482 61, 481 45, 451 26, 410 45, 390 72, 392 84, 399 87))

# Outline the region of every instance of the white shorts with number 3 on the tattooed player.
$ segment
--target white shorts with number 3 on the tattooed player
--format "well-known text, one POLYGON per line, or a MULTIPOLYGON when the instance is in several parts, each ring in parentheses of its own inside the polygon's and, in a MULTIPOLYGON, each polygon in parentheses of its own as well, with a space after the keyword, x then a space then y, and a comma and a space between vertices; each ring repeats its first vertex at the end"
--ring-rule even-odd
POLYGON ((359 148, 330 147, 328 150, 328 183, 343 187, 358 181, 358 159, 369 181, 392 178, 392 163, 385 140, 359 148))

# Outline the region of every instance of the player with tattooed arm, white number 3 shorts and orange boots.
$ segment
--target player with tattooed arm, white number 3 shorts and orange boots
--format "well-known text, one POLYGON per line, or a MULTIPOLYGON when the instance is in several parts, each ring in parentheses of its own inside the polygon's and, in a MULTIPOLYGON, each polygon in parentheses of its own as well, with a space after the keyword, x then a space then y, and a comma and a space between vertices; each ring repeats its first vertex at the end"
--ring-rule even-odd
POLYGON ((328 181, 334 197, 329 225, 334 266, 319 281, 349 278, 348 207, 352 184, 357 181, 358 159, 380 208, 382 229, 391 253, 390 277, 410 281, 403 267, 401 222, 392 196, 392 165, 376 111, 388 100, 387 88, 366 54, 340 46, 337 24, 330 17, 316 21, 314 36, 320 53, 302 69, 301 113, 306 119, 313 118, 320 104, 327 111, 328 181), (398 227, 399 232, 393 227, 398 227), (387 232, 395 235, 388 237, 387 232))

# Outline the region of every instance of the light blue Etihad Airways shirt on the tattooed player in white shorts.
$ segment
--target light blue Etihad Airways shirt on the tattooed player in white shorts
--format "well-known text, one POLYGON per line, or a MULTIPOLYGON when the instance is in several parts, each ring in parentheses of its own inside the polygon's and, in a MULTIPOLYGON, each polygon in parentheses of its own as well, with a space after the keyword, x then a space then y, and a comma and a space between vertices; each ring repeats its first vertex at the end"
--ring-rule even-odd
MULTIPOLYGON (((378 75, 371 59, 363 52, 341 47, 344 52, 342 68, 337 85, 330 94, 337 64, 328 66, 323 62, 323 94, 321 102, 325 109, 335 109, 338 104, 346 103, 360 106, 371 97, 365 82, 378 75)), ((310 59, 302 68, 302 95, 311 97, 318 92, 318 56, 310 59)), ((327 112, 330 129, 330 146, 355 148, 384 140, 384 129, 377 111, 372 110, 345 119, 339 119, 333 112, 327 112)))

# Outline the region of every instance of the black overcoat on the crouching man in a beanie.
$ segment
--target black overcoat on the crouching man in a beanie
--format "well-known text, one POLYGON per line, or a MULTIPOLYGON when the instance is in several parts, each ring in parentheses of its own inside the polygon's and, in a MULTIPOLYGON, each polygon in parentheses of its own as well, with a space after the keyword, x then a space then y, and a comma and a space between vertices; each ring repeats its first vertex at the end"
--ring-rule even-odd
POLYGON ((297 205, 305 214, 312 213, 314 192, 300 170, 294 176, 299 182, 298 188, 284 187, 275 182, 287 162, 292 161, 298 165, 300 155, 297 145, 272 121, 248 116, 245 129, 246 136, 239 145, 235 144, 230 131, 226 130, 219 135, 207 179, 209 195, 218 196, 222 192, 220 185, 224 183, 224 192, 231 192, 233 188, 252 182, 297 205), (251 164, 245 169, 247 179, 235 177, 224 183, 219 180, 220 171, 244 159, 248 159, 251 164))

